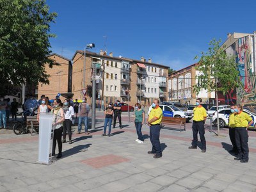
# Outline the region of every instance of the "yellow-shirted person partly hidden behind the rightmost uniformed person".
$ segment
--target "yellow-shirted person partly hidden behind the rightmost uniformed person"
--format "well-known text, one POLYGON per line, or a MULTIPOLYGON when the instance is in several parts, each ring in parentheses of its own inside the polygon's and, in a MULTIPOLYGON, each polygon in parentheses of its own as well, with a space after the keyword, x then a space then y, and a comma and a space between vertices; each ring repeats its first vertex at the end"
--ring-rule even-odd
POLYGON ((230 111, 231 111, 231 113, 230 113, 229 118, 228 118, 228 127, 229 127, 228 134, 229 134, 230 141, 233 145, 233 148, 229 152, 237 154, 236 136, 235 136, 235 131, 236 131, 235 106, 230 106, 230 111))

